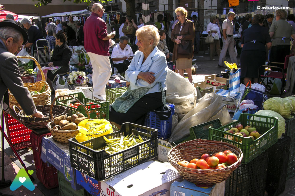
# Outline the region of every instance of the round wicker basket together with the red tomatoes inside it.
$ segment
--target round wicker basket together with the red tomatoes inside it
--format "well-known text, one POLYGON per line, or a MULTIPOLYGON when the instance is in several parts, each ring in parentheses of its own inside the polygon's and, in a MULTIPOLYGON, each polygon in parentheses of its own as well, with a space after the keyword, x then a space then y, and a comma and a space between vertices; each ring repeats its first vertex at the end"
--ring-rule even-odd
POLYGON ((201 185, 227 180, 242 158, 238 147, 207 139, 184 142, 168 152, 168 161, 178 173, 187 181, 201 185))

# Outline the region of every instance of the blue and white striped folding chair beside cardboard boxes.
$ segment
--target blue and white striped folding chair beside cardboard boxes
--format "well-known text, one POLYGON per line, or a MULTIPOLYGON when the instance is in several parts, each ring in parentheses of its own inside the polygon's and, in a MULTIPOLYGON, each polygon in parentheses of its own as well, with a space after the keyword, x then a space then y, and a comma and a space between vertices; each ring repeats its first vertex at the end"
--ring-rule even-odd
POLYGON ((235 73, 230 73, 229 88, 216 89, 214 92, 222 97, 224 102, 232 102, 237 108, 237 101, 240 99, 240 80, 241 80, 241 69, 238 69, 235 73))

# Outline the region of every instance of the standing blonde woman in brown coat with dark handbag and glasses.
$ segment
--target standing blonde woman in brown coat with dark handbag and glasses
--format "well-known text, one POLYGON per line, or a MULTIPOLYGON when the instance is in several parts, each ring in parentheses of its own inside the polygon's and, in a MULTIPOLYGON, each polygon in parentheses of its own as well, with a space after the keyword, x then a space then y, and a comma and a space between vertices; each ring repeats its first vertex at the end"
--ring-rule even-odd
POLYGON ((191 66, 194 57, 195 26, 192 21, 186 19, 187 11, 183 7, 176 8, 175 13, 178 22, 171 33, 171 40, 175 42, 172 59, 176 61, 179 74, 183 76, 184 69, 186 69, 189 82, 193 83, 191 66), (180 44, 184 47, 181 48, 180 44), (187 48, 187 51, 181 50, 185 48, 187 48))

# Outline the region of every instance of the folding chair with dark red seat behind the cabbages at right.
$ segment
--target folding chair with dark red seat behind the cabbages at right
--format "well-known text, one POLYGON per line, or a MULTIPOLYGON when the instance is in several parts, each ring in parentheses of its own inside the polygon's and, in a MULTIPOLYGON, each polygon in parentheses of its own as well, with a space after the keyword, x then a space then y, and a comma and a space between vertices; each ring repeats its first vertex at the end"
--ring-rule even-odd
MULTIPOLYGON (((280 97, 282 97, 282 94, 283 94, 283 89, 286 85, 286 77, 287 77, 287 73, 285 72, 285 69, 288 68, 288 64, 289 64, 289 58, 290 57, 293 57, 294 55, 293 54, 290 54, 290 55, 287 55, 285 57, 285 62, 284 63, 278 63, 278 62, 269 62, 267 65, 262 65, 260 67, 266 67, 266 68, 278 68, 281 70, 281 72, 269 72, 269 70, 267 69, 267 72, 266 74, 264 74, 264 69, 263 69, 263 75, 260 75, 260 73, 258 73, 259 75, 259 79, 260 81, 262 82, 262 84, 266 87, 266 89, 268 88, 268 78, 278 78, 278 79, 281 79, 282 81, 282 87, 281 87, 281 94, 280 94, 280 97), (281 67, 278 67, 278 66, 272 66, 271 64, 281 64, 283 65, 283 68, 281 67), (266 78, 266 82, 263 81, 263 79, 266 78)), ((260 70, 260 67, 259 67, 259 70, 260 70)), ((270 89, 268 89, 270 90, 270 89)))

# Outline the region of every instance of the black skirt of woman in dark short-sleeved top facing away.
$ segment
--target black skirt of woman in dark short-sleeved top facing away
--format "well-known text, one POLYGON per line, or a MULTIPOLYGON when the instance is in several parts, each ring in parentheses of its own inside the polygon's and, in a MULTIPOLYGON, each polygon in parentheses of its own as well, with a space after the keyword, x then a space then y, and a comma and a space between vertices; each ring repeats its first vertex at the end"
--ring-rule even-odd
POLYGON ((258 78, 259 67, 265 65, 265 54, 264 51, 242 51, 240 55, 241 78, 258 78))

